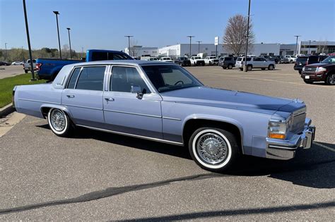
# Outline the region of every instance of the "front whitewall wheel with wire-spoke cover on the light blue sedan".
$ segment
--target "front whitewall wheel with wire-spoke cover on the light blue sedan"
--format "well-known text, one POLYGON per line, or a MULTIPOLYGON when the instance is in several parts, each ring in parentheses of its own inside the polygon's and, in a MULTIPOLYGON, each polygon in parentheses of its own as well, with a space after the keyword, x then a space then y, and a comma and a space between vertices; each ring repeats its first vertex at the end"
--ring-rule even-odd
POLYGON ((192 159, 196 164, 207 171, 222 172, 230 168, 239 156, 238 150, 239 148, 235 135, 220 128, 199 128, 195 130, 189 138, 189 153, 191 154, 192 159), (207 147, 202 148, 204 152, 199 153, 199 149, 201 149, 200 147, 204 147, 206 142, 207 147), (216 144, 223 144, 223 147, 213 146, 213 143, 215 142, 216 144), (203 145, 201 145, 201 143, 203 145), (221 149, 221 151, 218 149, 221 149), (223 156, 218 159, 218 155, 223 156))

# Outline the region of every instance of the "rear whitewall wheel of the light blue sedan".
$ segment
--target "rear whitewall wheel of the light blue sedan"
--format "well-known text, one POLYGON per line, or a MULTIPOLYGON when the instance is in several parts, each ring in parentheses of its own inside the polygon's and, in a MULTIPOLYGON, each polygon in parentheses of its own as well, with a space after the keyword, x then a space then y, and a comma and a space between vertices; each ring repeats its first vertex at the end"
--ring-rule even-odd
POLYGON ((47 122, 52 132, 59 137, 69 137, 74 132, 74 125, 69 118, 69 115, 61 109, 50 109, 47 114, 47 122), (58 118, 58 121, 57 116, 60 117, 58 118), (61 126, 57 129, 57 125, 61 125, 61 123, 59 123, 60 121, 65 122, 64 127, 61 126))

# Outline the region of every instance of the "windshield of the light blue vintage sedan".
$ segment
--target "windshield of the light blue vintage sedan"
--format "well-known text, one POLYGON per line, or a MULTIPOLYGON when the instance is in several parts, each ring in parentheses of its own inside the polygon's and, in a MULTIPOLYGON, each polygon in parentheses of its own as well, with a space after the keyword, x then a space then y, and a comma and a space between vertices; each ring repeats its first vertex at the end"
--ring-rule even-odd
POLYGON ((142 66, 149 80, 158 92, 180 90, 188 87, 201 86, 201 82, 180 66, 142 66))

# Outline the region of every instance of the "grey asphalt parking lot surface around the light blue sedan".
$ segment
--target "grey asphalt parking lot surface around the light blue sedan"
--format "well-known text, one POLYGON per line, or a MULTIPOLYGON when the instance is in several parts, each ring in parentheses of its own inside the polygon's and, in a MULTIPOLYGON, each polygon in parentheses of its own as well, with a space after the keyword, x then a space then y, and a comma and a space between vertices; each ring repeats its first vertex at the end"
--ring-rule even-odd
POLYGON ((187 69, 212 87, 302 99, 316 143, 290 161, 245 156, 218 174, 182 147, 87 129, 62 138, 27 116, 0 138, 0 220, 333 220, 335 87, 305 84, 292 64, 187 69))

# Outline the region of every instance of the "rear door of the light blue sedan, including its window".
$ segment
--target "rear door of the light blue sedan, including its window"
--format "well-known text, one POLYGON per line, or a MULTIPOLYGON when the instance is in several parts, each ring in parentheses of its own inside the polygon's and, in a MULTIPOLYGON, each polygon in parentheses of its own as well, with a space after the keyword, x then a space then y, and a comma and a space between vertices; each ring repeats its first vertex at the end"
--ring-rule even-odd
POLYGON ((76 125, 100 128, 104 123, 102 111, 103 82, 106 66, 75 68, 61 94, 61 104, 69 109, 76 125))

